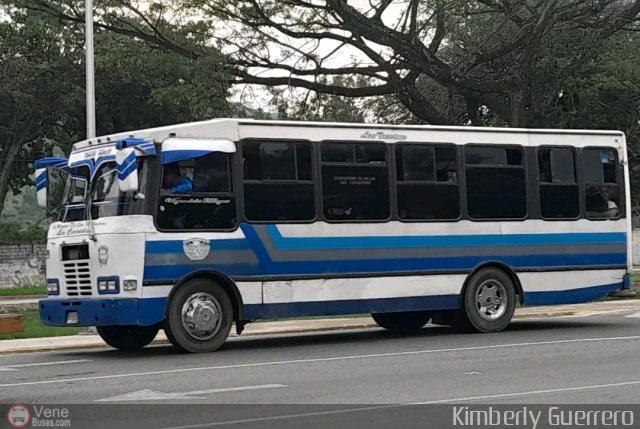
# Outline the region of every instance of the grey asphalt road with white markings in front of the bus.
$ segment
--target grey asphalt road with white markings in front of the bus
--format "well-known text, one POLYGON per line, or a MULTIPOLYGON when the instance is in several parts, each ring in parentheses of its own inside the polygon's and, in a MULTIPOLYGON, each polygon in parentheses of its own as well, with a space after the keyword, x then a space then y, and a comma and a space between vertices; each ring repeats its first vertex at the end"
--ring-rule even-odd
POLYGON ((514 321, 499 334, 428 326, 412 336, 366 329, 240 337, 200 355, 170 346, 133 355, 6 355, 0 403, 101 404, 71 409, 77 416, 91 410, 103 423, 138 415, 131 427, 284 427, 288 420, 275 417, 282 415, 297 416, 291 427, 299 427, 312 417, 406 417, 411 403, 640 404, 639 368, 640 313, 556 317, 514 321), (182 406, 141 414, 139 406, 108 405, 139 402, 182 406))

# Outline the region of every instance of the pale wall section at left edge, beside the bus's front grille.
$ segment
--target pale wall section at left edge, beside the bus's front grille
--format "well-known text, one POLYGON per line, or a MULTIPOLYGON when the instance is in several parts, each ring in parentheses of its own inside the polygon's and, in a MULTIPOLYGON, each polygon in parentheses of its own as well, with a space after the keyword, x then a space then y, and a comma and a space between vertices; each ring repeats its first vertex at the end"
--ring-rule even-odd
POLYGON ((44 285, 46 246, 0 246, 0 289, 44 285))

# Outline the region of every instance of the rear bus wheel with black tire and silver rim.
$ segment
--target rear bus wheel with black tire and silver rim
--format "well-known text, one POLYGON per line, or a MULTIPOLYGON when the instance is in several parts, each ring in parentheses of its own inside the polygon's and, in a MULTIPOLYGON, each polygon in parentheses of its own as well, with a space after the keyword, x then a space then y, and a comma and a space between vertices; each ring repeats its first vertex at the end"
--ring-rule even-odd
POLYGON ((469 279, 453 325, 466 332, 500 332, 511 322, 515 309, 516 288, 511 277, 498 268, 484 268, 469 279))

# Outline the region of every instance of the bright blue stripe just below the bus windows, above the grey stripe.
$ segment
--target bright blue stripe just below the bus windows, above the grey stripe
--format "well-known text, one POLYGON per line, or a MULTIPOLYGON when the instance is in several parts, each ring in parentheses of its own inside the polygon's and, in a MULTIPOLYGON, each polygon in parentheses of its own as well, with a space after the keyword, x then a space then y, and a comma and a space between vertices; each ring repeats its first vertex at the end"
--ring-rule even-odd
MULTIPOLYGON (((627 239, 624 232, 393 237, 283 237, 276 225, 265 225, 265 229, 274 245, 281 250, 604 244, 625 243, 627 239)), ((244 230, 245 228, 243 228, 244 230)))

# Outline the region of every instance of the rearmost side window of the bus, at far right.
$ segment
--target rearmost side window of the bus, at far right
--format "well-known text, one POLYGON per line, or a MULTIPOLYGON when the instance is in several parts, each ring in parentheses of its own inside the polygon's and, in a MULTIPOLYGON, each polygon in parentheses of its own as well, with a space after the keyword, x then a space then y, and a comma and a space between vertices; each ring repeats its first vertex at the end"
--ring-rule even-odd
POLYGON ((624 213, 617 174, 616 151, 587 148, 582 151, 585 215, 589 219, 615 219, 624 213))

